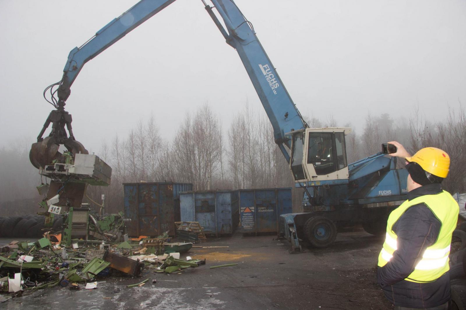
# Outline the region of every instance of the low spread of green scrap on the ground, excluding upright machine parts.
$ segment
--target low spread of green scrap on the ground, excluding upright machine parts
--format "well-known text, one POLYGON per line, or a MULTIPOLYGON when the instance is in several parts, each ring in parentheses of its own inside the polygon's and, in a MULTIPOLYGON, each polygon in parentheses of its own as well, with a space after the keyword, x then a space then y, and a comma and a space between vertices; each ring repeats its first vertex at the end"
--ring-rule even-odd
POLYGON ((96 288, 96 279, 112 275, 141 277, 143 270, 178 273, 205 264, 191 257, 180 259, 175 251, 189 251, 192 244, 170 243, 166 232, 157 238, 124 239, 111 243, 72 239, 66 246, 56 235, 45 233, 35 242, 12 241, 0 248, 0 291, 12 298, 55 286, 89 289, 96 288))

